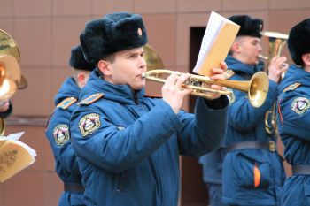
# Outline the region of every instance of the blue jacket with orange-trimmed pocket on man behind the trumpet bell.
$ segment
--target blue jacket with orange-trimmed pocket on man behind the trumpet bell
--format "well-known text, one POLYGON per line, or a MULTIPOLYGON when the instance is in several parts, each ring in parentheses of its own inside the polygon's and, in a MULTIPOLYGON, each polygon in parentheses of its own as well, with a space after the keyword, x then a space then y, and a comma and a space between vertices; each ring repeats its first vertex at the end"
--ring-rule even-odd
MULTIPOLYGON (((228 56, 228 67, 235 72, 231 80, 250 80, 259 69, 244 65, 228 56)), ((229 126, 225 144, 240 141, 276 141, 275 134, 265 130, 265 113, 276 101, 277 84, 269 80, 266 102, 252 107, 247 94, 233 90, 229 104, 229 126)), ((280 205, 285 172, 281 156, 268 149, 238 149, 226 154, 223 162, 223 202, 236 205, 280 205), (254 166, 260 171, 259 184, 254 186, 254 166)))

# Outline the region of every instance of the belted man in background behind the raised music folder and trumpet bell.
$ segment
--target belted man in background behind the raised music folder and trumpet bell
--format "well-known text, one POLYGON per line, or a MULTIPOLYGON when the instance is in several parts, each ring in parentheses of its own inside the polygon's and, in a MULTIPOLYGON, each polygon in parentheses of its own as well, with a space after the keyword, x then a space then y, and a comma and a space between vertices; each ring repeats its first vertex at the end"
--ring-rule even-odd
MULTIPOLYGON (((225 59, 235 74, 231 80, 250 80, 258 67, 263 21, 246 15, 229 18, 240 25, 235 42, 225 59)), ((285 172, 276 150, 275 134, 265 130, 265 113, 277 98, 286 57, 273 57, 268 66, 269 90, 259 108, 246 93, 233 90, 229 103, 229 126, 225 137, 226 156, 222 168, 222 202, 229 205, 280 205, 285 172)))

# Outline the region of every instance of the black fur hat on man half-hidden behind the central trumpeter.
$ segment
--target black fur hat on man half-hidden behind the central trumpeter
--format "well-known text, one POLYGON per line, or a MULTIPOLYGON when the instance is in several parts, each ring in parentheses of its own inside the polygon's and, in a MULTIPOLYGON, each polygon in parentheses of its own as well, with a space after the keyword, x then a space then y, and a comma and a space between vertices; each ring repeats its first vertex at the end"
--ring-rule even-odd
POLYGON ((71 49, 69 65, 71 65, 74 69, 87 71, 92 71, 96 67, 85 60, 83 50, 81 50, 81 45, 75 46, 71 49))

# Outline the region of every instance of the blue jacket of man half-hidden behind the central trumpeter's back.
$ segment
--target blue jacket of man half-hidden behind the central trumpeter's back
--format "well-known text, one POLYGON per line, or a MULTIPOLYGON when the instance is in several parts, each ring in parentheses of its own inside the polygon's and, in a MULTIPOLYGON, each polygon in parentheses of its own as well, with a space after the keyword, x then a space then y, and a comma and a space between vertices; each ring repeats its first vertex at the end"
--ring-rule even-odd
MULTIPOLYGON (((55 105, 60 106, 55 109, 50 116, 49 124, 46 128, 46 136, 50 141, 50 146, 55 158, 56 172, 59 178, 65 183, 76 183, 81 185, 81 172, 76 160, 74 149, 71 147, 71 135, 69 133, 69 122, 71 113, 77 106, 81 89, 75 84, 73 78, 68 78, 54 98, 55 105), (65 101, 65 102, 63 102, 65 101)), ((85 205, 83 193, 64 192, 59 198, 59 206, 85 205)))

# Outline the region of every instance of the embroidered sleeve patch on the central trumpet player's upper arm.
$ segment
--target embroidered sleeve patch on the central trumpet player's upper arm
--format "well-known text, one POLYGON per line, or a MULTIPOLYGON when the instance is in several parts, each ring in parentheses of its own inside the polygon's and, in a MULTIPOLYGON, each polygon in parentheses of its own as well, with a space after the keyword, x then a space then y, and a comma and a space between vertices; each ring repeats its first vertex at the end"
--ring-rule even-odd
POLYGON ((100 117, 96 113, 90 113, 79 121, 79 128, 83 137, 92 134, 101 126, 100 117))

